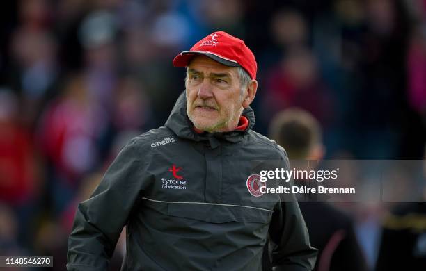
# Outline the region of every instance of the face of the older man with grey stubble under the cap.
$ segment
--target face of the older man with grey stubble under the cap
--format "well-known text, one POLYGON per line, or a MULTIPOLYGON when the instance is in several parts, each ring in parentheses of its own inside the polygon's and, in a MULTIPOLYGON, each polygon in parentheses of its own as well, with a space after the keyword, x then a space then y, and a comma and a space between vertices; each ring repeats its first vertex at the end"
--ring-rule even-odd
POLYGON ((237 67, 196 56, 187 70, 187 113, 197 129, 232 131, 243 110, 237 67))

